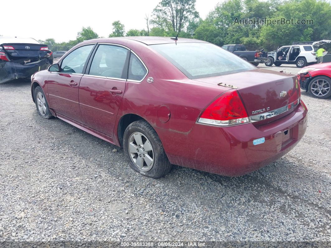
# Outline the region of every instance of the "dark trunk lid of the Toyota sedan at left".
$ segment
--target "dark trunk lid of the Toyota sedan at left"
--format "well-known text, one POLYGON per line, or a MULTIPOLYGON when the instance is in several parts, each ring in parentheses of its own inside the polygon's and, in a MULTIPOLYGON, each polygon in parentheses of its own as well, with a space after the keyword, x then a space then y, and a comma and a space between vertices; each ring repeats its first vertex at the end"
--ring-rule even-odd
POLYGON ((47 45, 33 43, 4 43, 1 44, 1 47, 7 52, 10 61, 18 63, 29 63, 44 59, 48 52, 47 45), (41 48, 47 49, 41 50, 41 48))

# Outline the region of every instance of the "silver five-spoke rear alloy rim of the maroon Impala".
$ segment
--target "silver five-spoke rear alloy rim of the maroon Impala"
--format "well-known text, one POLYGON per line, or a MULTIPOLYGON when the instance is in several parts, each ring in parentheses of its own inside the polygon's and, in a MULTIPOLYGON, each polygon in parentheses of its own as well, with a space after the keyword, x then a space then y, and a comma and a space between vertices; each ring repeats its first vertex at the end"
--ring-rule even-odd
POLYGON ((154 165, 154 150, 151 142, 141 132, 134 132, 129 137, 128 150, 136 167, 147 172, 154 165))

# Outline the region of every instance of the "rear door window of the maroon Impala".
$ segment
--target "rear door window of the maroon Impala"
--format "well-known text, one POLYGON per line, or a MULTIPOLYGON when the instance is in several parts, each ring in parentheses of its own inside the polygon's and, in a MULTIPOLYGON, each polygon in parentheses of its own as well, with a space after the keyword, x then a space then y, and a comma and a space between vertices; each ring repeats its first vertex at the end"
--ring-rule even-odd
POLYGON ((89 75, 126 79, 128 55, 129 51, 123 47, 99 45, 89 75))

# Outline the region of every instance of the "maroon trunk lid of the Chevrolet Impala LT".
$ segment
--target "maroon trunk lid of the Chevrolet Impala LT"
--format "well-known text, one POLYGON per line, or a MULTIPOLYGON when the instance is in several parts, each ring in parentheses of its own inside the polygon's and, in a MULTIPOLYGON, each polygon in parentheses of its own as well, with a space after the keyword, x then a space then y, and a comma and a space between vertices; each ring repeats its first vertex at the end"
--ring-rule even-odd
POLYGON ((300 96, 296 76, 263 69, 196 80, 237 89, 251 121, 259 124, 291 113, 300 96))

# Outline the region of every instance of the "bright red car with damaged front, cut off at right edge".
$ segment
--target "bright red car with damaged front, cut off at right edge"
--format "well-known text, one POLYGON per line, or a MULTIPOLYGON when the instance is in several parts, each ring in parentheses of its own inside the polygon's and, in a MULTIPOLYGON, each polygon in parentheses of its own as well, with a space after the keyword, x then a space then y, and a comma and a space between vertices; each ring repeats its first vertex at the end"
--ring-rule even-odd
POLYGON ((298 72, 300 87, 313 97, 325 99, 331 96, 331 62, 306 66, 298 72))

